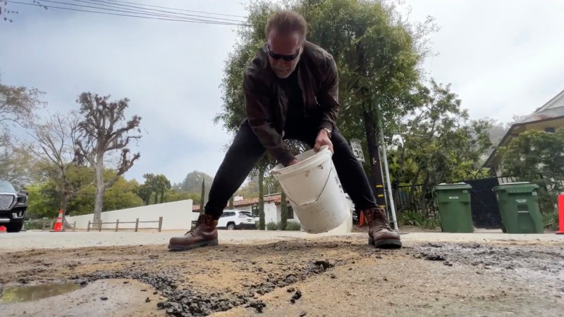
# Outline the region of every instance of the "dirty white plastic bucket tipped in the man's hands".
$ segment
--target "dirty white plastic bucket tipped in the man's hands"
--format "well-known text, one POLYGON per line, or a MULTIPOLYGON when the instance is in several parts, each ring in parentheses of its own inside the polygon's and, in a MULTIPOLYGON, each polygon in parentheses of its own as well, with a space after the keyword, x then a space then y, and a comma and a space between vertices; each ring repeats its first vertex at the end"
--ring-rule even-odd
POLYGON ((333 165, 329 147, 298 154, 298 163, 278 164, 271 174, 280 182, 290 206, 306 232, 328 232, 350 216, 341 181, 333 165))

